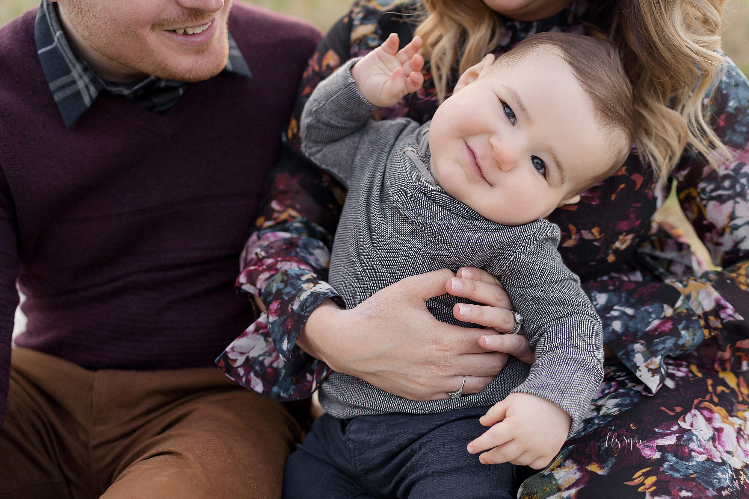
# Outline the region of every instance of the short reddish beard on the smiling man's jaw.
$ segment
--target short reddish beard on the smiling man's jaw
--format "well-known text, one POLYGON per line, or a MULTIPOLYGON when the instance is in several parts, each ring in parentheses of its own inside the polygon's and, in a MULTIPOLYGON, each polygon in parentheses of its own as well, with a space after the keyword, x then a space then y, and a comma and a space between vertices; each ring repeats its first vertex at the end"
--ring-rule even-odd
MULTIPOLYGON (((225 4, 225 8, 231 7, 231 1, 225 4)), ((109 15, 108 11, 101 7, 96 0, 71 0, 67 4, 67 13, 73 28, 78 31, 85 43, 99 52, 110 61, 115 61, 124 66, 138 70, 158 78, 177 80, 181 82, 199 82, 216 76, 226 65, 228 58, 228 28, 223 20, 223 26, 216 26, 222 33, 203 46, 182 46, 175 54, 175 50, 166 50, 157 40, 160 31, 164 28, 175 26, 195 25, 204 22, 208 13, 199 9, 186 9, 184 15, 169 19, 159 19, 149 29, 150 33, 133 32, 127 25, 118 23, 117 18, 109 15), (85 21, 82 21, 85 19, 85 21), (151 43, 149 43, 151 41, 151 43), (220 47, 216 51, 217 46, 220 47), (204 64, 181 65, 179 61, 189 58, 191 55, 198 58, 200 55, 213 50, 218 52, 213 58, 204 64), (178 55, 179 57, 175 57, 178 55), (185 67, 187 66, 187 67, 185 67)), ((219 22, 222 13, 216 13, 213 22, 219 22)), ((228 17, 228 16, 227 16, 228 17)), ((165 40, 166 41, 166 40, 165 40)))

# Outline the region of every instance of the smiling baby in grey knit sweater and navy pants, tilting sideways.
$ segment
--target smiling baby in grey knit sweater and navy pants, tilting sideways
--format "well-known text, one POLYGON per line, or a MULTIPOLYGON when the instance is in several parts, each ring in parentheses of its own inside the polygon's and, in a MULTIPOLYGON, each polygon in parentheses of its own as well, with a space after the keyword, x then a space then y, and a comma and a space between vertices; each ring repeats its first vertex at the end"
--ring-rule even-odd
MULTIPOLYGON (((536 361, 511 357, 480 393, 455 387, 428 401, 331 374, 320 395, 327 414, 291 456, 285 498, 333 497, 347 483, 367 498, 509 497, 507 462, 547 465, 601 382, 600 319, 544 218, 577 203, 630 150, 631 89, 616 50, 536 34, 467 70, 431 121, 371 120, 421 87, 420 43, 398 51, 391 35, 306 104, 304 152, 348 187, 330 284, 355 307, 411 275, 485 269, 524 318, 536 361)), ((456 304, 449 295, 427 302, 437 319, 468 325, 456 304)))

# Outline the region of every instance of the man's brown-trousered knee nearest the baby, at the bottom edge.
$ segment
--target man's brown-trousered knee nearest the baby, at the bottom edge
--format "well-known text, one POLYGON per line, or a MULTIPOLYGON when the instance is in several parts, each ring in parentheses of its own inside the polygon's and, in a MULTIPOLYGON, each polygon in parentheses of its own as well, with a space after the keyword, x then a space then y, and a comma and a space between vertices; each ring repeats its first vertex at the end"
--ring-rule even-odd
POLYGON ((301 437, 282 405, 246 391, 192 404, 124 459, 103 498, 280 498, 301 437))

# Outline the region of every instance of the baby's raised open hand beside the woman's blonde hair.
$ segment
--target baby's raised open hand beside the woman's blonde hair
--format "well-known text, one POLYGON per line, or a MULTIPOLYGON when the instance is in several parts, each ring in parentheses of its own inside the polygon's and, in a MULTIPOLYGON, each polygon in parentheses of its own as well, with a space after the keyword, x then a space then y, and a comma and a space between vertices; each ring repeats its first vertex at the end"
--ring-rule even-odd
POLYGON ((351 68, 351 76, 366 100, 380 108, 395 105, 401 97, 421 88, 424 58, 417 54, 420 37, 398 50, 398 35, 390 34, 377 49, 351 68))

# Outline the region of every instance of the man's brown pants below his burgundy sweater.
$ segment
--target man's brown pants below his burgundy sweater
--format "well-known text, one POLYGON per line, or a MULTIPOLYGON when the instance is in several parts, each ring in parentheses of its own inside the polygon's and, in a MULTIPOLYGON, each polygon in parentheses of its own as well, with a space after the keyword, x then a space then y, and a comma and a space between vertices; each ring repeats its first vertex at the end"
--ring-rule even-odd
POLYGON ((13 349, 0 499, 280 498, 301 436, 215 368, 89 371, 13 349))

